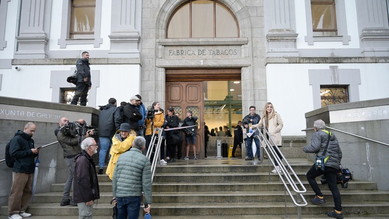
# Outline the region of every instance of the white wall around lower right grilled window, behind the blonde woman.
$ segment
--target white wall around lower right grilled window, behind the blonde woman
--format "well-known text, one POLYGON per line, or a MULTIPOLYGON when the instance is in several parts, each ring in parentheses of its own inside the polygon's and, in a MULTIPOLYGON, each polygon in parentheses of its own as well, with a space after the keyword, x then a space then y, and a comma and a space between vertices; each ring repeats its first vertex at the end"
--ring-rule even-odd
MULTIPOLYGON (((282 135, 305 135, 305 113, 314 110, 308 69, 359 69, 359 101, 389 97, 389 64, 268 64, 267 98, 281 115, 282 135)), ((263 106, 257 106, 263 110, 263 106)))

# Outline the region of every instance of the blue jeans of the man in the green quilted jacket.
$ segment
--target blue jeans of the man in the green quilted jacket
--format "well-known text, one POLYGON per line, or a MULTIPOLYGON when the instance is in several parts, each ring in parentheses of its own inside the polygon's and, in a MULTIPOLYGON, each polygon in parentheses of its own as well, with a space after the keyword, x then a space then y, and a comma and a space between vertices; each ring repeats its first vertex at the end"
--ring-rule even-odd
POLYGON ((140 196, 116 197, 118 219, 138 219, 140 196))

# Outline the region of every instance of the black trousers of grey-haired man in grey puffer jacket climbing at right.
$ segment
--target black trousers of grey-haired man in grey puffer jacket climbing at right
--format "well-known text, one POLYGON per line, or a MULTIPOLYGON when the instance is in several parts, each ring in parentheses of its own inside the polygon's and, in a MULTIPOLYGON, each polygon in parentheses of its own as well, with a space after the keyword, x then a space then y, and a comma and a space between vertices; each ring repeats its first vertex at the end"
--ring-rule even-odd
POLYGON ((315 194, 317 196, 323 196, 323 193, 321 193, 319 185, 317 185, 315 178, 324 175, 324 177, 326 177, 327 179, 328 188, 331 191, 332 196, 334 197, 334 209, 342 211, 342 200, 340 197, 338 186, 336 185, 336 174, 338 174, 338 170, 336 170, 335 168, 326 166, 324 167, 324 171, 321 169, 316 170, 314 164, 307 172, 307 180, 309 182, 309 185, 314 190, 315 194))

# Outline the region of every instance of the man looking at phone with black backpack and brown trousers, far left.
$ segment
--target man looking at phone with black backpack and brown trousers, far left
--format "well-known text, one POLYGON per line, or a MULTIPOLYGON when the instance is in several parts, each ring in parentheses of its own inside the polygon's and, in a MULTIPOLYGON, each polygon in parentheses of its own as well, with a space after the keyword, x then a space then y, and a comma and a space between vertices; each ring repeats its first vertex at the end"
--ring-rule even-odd
POLYGON ((9 154, 15 159, 12 168, 12 188, 8 197, 8 214, 12 219, 31 216, 25 211, 32 196, 35 157, 39 153, 31 138, 36 130, 35 124, 28 122, 23 131, 18 130, 15 133, 9 145, 9 154))

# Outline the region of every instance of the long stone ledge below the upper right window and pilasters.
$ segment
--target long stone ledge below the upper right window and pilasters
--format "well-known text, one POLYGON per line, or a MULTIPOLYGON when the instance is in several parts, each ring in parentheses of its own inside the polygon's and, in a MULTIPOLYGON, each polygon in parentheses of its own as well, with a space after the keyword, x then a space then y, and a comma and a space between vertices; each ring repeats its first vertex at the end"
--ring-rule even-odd
POLYGON ((267 64, 389 63, 389 57, 266 57, 267 64))

